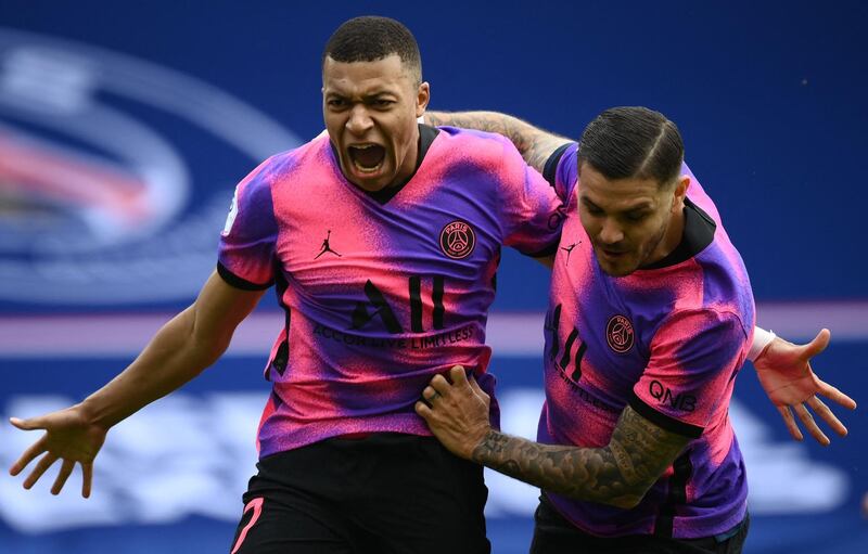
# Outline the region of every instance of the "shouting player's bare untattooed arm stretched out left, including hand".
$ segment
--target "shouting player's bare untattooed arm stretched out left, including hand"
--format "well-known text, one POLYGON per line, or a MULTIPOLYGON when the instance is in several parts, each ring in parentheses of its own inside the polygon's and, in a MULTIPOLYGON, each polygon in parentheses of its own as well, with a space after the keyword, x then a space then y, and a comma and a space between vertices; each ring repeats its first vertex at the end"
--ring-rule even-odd
POLYGON ((12 417, 23 430, 44 429, 12 465, 20 474, 44 453, 24 481, 29 489, 58 460, 61 472, 53 494, 60 493, 76 463, 81 464, 81 494, 90 495, 93 460, 108 429, 150 402, 199 375, 229 346, 238 324, 256 307, 263 292, 229 286, 215 272, 195 302, 166 323, 141 355, 120 374, 81 403, 29 420, 12 417))

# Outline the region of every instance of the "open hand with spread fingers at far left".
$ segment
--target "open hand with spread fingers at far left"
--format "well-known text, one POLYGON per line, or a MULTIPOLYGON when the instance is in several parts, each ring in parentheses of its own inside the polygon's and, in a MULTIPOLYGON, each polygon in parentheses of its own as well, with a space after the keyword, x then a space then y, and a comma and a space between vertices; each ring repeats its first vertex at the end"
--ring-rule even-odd
POLYGON ((90 497, 93 459, 105 441, 106 429, 90 423, 77 405, 29 420, 11 417, 10 423, 22 430, 46 430, 9 469, 11 475, 18 475, 30 462, 44 453, 24 480, 25 489, 33 487, 54 462, 62 460, 63 464, 51 487, 51 493, 61 492, 75 464, 79 463, 84 477, 81 495, 90 497))

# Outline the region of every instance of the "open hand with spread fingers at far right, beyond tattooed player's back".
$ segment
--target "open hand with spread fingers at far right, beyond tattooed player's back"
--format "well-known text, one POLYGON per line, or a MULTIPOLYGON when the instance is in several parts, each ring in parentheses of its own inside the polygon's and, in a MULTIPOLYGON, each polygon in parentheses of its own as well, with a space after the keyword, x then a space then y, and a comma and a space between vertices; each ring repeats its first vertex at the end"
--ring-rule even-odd
POLYGON ((838 435, 846 436, 847 428, 818 395, 848 410, 856 409, 856 402, 852 398, 821 381, 810 368, 810 359, 829 346, 830 336, 829 330, 824 328, 806 345, 794 345, 776 337, 753 362, 760 384, 783 417, 790 435, 795 440, 804 438, 793 417, 795 412, 810 436, 822 446, 830 443, 829 437, 814 421, 808 408, 838 435))

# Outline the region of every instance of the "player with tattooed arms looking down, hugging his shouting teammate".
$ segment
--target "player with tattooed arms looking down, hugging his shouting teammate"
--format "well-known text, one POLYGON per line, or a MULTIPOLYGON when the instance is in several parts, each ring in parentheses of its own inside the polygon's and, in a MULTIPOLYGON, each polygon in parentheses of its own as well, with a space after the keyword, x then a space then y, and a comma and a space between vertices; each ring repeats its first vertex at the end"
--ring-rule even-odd
POLYGON ((612 108, 580 146, 544 139, 567 218, 538 442, 492 428, 461 368, 417 412, 456 454, 542 489, 534 553, 741 552, 748 489, 728 416, 754 327, 741 257, 662 114, 612 108))

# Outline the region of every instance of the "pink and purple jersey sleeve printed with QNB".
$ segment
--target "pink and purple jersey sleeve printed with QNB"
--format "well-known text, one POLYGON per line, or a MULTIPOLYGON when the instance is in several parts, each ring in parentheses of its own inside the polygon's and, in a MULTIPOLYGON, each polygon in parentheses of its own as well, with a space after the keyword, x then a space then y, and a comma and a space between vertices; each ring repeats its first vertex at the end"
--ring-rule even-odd
POLYGON ((674 313, 651 342, 651 357, 633 388, 630 407, 666 430, 698 438, 731 395, 748 338, 735 313, 674 313))

